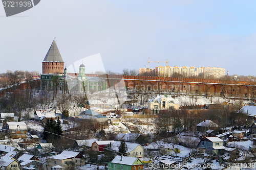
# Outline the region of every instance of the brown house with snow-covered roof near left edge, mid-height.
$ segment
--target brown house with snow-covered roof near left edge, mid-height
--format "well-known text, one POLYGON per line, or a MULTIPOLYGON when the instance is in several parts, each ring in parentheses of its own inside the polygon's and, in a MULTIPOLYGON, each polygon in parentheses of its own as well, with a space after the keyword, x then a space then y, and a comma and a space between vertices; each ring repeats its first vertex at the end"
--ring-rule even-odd
POLYGON ((27 138, 28 127, 25 122, 6 122, 3 131, 11 138, 27 138))

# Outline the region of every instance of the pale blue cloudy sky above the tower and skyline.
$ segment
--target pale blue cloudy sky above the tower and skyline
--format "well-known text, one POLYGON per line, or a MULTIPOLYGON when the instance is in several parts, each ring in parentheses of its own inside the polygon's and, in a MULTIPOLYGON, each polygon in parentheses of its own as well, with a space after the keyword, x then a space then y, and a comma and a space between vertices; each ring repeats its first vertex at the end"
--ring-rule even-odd
POLYGON ((67 66, 100 54, 104 69, 113 72, 147 67, 150 58, 256 76, 255 6, 235 0, 41 0, 6 17, 0 5, 0 72, 41 73, 56 37, 67 66))

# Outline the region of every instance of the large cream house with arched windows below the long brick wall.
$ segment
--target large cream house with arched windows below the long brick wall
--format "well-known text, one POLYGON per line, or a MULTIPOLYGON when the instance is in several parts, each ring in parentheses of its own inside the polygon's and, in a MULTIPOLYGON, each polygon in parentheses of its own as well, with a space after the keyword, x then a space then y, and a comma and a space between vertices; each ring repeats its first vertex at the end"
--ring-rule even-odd
POLYGON ((172 96, 157 95, 155 98, 147 102, 147 109, 157 113, 159 110, 178 110, 178 99, 172 96))

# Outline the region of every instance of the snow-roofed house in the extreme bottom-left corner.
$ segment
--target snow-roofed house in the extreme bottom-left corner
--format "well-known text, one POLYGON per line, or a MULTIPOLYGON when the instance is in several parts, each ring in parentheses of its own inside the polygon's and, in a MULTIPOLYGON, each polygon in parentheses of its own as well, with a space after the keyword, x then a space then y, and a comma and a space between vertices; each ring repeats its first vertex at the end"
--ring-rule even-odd
POLYGON ((0 167, 1 169, 21 169, 19 161, 10 156, 2 156, 0 158, 0 167))

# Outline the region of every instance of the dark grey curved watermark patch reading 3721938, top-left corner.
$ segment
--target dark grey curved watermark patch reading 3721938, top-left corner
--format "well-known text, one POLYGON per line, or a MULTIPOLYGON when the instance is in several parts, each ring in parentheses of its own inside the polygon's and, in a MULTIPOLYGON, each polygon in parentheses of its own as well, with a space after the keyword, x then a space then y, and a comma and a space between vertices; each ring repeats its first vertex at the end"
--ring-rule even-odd
POLYGON ((2 0, 6 16, 16 15, 36 6, 41 0, 2 0))

